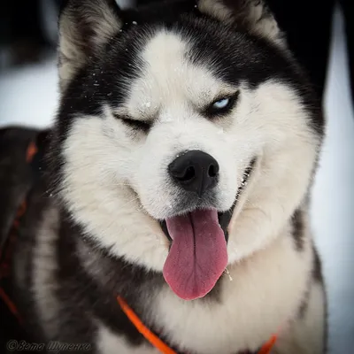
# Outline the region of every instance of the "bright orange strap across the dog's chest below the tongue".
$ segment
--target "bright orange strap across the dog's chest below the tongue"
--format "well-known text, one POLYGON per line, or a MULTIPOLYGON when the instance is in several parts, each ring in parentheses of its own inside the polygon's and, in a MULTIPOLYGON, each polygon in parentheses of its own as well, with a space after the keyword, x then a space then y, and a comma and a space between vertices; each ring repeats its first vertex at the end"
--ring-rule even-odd
MULTIPOLYGON (((177 354, 175 350, 171 349, 165 342, 161 341, 157 335, 153 334, 148 327, 146 327, 142 320, 136 315, 136 313, 129 307, 126 301, 121 297, 117 297, 117 301, 121 310, 126 314, 127 318, 132 322, 135 328, 150 342, 150 344, 164 354, 177 354)), ((272 335, 268 342, 266 342, 258 354, 270 354, 273 346, 277 340, 276 335, 272 335)))

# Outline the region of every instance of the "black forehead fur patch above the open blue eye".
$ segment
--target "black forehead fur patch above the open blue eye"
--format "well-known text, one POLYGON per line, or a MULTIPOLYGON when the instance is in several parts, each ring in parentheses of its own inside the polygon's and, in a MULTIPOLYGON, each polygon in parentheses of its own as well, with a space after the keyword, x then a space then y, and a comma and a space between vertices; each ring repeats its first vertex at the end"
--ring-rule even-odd
POLYGON ((324 118, 319 98, 310 81, 292 56, 272 42, 250 35, 242 27, 225 27, 217 20, 202 16, 182 16, 174 30, 189 38, 186 57, 196 65, 207 65, 215 76, 237 87, 240 82, 256 89, 268 80, 278 80, 295 89, 309 112, 309 125, 322 137, 324 118))

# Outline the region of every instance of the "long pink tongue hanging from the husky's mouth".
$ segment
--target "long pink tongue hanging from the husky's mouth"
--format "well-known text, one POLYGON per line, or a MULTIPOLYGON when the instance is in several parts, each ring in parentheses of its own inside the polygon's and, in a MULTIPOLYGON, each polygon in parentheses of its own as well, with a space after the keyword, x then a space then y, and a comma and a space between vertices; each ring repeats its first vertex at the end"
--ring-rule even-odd
POLYGON ((185 300, 205 296, 227 266, 227 242, 217 211, 196 211, 166 220, 173 239, 164 277, 185 300))

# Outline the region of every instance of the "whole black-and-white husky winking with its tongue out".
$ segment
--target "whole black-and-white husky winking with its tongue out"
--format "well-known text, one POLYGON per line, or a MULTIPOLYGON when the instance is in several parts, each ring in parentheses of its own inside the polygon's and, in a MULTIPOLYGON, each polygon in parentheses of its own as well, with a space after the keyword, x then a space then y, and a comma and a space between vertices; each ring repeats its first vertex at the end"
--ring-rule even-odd
MULTIPOLYGON (((324 121, 266 4, 69 0, 58 51, 58 117, 13 255, 31 338, 157 353, 121 296, 175 352, 256 353, 272 335, 272 353, 325 352, 308 218, 324 121)), ((1 134, 4 240, 35 133, 1 134)))

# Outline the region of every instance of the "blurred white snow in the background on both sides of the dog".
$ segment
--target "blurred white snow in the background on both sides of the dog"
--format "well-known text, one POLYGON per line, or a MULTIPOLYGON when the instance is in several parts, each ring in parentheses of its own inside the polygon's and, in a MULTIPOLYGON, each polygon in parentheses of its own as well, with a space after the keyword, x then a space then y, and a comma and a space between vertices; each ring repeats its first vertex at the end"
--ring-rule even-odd
MULTIPOLYGON (((354 348, 354 113, 342 17, 335 14, 327 85, 327 140, 313 189, 312 223, 328 286, 330 352, 354 348)), ((0 75, 0 126, 48 126, 58 100, 53 59, 0 75)), ((351 351, 351 352, 354 352, 351 351)))

